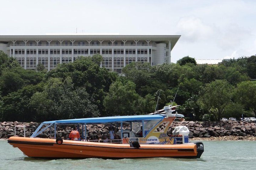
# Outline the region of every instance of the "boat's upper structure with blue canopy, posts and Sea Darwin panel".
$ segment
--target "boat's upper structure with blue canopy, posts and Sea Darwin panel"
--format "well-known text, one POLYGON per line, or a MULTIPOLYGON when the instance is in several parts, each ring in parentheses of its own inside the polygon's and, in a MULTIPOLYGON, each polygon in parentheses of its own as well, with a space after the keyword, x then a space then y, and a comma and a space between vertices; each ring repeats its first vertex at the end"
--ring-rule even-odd
MULTIPOLYGON (((81 134, 82 141, 96 142, 104 139, 104 142, 107 143, 137 141, 140 144, 185 144, 188 143, 189 131, 185 135, 177 132, 175 135, 167 133, 173 121, 183 120, 183 117, 181 114, 157 114, 46 121, 40 124, 31 138, 42 138, 42 133, 47 131, 51 138, 56 139, 60 137, 60 129, 65 131, 67 127, 75 126, 81 134), (108 127, 105 132, 112 130, 110 128, 114 127, 115 139, 106 139, 106 136, 103 136, 102 133, 99 134, 99 136, 102 136, 101 139, 91 138, 91 135, 93 135, 90 134, 91 127, 99 124, 101 124, 101 127, 108 127)), ((64 137, 64 139, 66 138, 64 137)))

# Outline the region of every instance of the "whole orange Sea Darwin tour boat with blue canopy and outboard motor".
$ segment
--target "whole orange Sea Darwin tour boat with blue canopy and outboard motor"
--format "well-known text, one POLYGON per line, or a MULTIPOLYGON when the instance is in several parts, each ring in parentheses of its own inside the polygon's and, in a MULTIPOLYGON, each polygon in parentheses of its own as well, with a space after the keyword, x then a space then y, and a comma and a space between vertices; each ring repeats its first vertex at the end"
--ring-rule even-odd
POLYGON ((190 143, 186 127, 175 128, 172 136, 167 135, 172 122, 183 120, 183 117, 181 114, 158 114, 47 121, 41 123, 30 138, 13 136, 8 139, 8 143, 34 158, 200 158, 204 151, 203 143, 190 143), (120 127, 129 125, 130 128, 120 128, 116 132, 120 140, 108 140, 109 143, 83 141, 87 137, 86 125, 112 123, 119 123, 120 127), (57 137, 56 129, 63 125, 82 127, 78 130, 82 131, 82 141, 57 137), (165 128, 159 131, 162 126, 165 128), (39 138, 44 131, 52 132, 52 129, 54 139, 39 138), (139 131, 142 137, 138 137, 139 131))

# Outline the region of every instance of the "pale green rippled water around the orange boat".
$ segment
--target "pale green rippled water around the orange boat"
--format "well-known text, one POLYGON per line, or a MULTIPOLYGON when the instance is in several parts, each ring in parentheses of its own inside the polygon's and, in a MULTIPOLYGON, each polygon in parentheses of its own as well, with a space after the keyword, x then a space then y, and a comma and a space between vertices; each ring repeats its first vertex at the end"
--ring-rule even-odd
POLYGON ((34 159, 24 156, 5 140, 0 140, 0 170, 40 169, 256 169, 256 141, 203 141, 204 153, 200 159, 146 158, 146 159, 34 159))

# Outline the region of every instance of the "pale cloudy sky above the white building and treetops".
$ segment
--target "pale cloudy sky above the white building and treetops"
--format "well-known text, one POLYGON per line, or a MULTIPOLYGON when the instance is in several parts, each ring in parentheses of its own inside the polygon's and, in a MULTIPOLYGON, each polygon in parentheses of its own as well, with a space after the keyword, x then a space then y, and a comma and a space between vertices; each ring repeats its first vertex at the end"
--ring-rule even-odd
POLYGON ((256 54, 253 0, 1 0, 0 35, 181 35, 171 62, 256 54))

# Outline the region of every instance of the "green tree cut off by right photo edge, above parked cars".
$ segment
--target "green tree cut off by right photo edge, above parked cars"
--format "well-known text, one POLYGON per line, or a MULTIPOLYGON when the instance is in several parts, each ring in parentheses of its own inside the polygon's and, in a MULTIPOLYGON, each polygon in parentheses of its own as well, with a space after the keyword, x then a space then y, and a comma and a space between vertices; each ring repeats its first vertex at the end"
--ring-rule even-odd
POLYGON ((235 90, 235 99, 256 117, 256 82, 240 82, 235 90))

